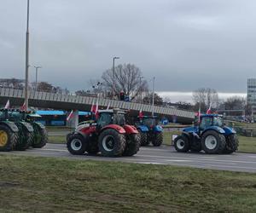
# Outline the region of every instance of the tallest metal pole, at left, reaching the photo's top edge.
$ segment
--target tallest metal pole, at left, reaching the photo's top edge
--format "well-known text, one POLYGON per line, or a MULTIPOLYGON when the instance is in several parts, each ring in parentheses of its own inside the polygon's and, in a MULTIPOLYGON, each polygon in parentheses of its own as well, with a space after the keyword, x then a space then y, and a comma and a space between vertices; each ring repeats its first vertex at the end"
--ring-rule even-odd
POLYGON ((29 0, 26 14, 26 75, 25 75, 25 110, 28 108, 28 68, 29 68, 29 0))

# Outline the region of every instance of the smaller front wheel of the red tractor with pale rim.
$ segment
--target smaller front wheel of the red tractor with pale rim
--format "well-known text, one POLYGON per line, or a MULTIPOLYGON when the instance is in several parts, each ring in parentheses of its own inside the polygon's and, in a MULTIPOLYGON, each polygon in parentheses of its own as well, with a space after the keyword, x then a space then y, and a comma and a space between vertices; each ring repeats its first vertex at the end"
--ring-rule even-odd
POLYGON ((67 150, 76 155, 84 154, 87 145, 87 140, 82 135, 74 134, 68 138, 67 150))

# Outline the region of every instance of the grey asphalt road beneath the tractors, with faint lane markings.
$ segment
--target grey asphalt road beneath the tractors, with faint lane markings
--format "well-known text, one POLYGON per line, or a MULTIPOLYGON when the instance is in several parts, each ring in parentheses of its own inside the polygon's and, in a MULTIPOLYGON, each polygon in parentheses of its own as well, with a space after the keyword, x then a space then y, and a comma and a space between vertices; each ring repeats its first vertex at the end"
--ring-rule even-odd
POLYGON ((64 144, 47 144, 42 149, 28 149, 25 152, 3 154, 30 155, 57 158, 79 158, 101 161, 121 161, 138 164, 172 164, 212 170, 233 170, 256 173, 256 154, 233 153, 224 155, 208 155, 205 153, 177 153, 173 147, 141 147, 139 153, 132 157, 104 158, 100 154, 75 156, 68 153, 64 144))

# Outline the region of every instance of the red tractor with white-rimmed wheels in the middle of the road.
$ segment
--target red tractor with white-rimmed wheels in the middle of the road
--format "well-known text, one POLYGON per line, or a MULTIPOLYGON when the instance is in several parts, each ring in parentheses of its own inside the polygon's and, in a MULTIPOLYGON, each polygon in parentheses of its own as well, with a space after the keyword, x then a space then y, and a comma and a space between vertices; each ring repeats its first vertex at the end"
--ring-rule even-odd
POLYGON ((106 157, 132 156, 140 147, 135 126, 125 124, 125 112, 100 110, 96 123, 81 123, 67 135, 67 149, 72 154, 102 153, 106 157))

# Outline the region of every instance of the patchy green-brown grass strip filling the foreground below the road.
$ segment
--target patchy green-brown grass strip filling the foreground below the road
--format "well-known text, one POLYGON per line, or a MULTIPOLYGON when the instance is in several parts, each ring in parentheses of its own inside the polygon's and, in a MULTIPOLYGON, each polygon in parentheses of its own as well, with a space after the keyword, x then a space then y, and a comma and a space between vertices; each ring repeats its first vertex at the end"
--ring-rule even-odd
POLYGON ((229 171, 0 155, 0 211, 255 212, 255 182, 229 171))

